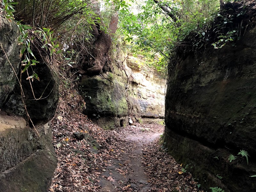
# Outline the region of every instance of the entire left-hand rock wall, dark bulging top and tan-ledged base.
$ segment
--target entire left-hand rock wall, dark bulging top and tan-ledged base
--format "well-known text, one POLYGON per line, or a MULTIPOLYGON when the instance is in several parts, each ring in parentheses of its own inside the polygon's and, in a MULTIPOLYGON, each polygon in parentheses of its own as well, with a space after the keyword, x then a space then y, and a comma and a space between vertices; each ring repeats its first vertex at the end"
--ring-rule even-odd
POLYGON ((34 98, 26 73, 21 75, 21 85, 38 135, 29 126, 15 75, 20 77, 22 59, 17 41, 19 29, 15 22, 0 19, 0 192, 48 191, 57 166, 48 123, 58 102, 57 76, 35 49, 33 52, 40 63, 34 70, 40 81, 31 84, 36 99, 40 99, 34 98))

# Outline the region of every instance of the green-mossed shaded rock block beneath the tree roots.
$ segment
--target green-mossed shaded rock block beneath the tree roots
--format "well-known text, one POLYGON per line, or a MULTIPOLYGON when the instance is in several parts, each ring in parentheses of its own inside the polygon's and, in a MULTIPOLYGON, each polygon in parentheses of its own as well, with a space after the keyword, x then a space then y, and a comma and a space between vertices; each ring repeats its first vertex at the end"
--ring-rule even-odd
POLYGON ((83 76, 80 88, 91 97, 84 97, 88 116, 95 114, 95 117, 121 117, 127 114, 124 84, 116 80, 111 82, 100 76, 83 76))

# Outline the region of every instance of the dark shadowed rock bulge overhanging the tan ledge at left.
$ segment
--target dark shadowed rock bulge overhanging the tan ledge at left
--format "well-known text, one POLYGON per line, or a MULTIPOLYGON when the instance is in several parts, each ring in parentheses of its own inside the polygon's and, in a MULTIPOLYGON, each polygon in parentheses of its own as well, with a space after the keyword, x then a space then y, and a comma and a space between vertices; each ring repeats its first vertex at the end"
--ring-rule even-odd
MULTIPOLYGON (((29 81, 26 80, 27 73, 22 73, 21 84, 25 95, 24 100, 33 123, 47 122, 52 119, 59 100, 58 77, 50 63, 45 62, 36 51, 34 51, 34 54, 37 61, 39 61, 34 70, 40 81, 34 80, 31 82, 31 88, 29 81)), ((33 72, 29 69, 28 73, 32 74, 33 72)), ((27 113, 20 97, 20 85, 18 83, 14 91, 9 94, 9 98, 2 109, 8 113, 26 118, 27 113)))

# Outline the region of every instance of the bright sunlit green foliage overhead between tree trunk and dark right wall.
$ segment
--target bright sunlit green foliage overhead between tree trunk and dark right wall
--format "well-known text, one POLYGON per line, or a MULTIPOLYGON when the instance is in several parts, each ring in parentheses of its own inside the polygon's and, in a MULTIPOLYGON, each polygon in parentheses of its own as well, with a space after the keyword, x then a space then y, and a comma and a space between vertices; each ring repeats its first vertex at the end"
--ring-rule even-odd
POLYGON ((153 0, 132 5, 131 10, 120 10, 119 32, 124 34, 128 49, 143 55, 149 66, 158 71, 166 70, 171 52, 191 31, 211 18, 218 8, 215 0, 161 1, 172 9, 174 21, 153 0))

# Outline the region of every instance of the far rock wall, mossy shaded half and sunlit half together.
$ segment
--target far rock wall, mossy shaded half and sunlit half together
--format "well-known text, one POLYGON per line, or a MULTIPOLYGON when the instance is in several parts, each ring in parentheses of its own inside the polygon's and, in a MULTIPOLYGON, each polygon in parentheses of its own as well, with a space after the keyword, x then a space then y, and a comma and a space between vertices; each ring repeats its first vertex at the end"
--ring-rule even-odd
POLYGON ((129 56, 119 67, 113 64, 111 72, 82 76, 80 88, 86 102, 85 112, 101 127, 112 129, 126 124, 128 78, 127 93, 135 117, 144 122, 163 121, 160 119, 164 118, 166 82, 156 70, 141 62, 129 56))

